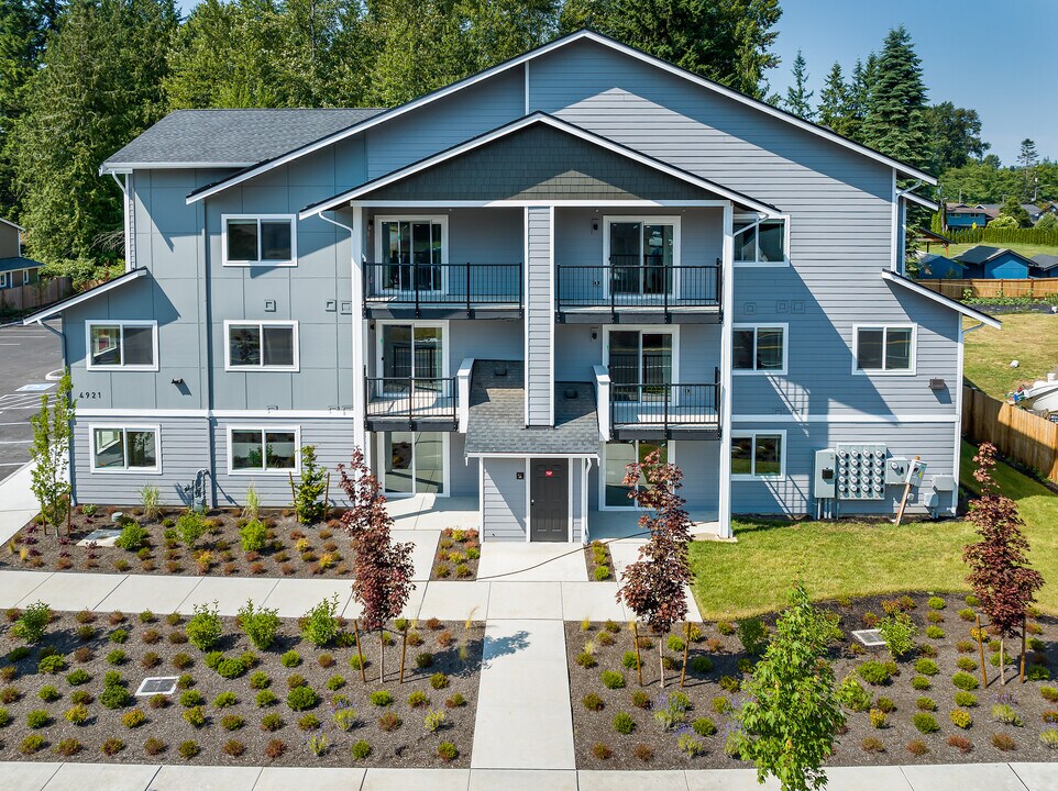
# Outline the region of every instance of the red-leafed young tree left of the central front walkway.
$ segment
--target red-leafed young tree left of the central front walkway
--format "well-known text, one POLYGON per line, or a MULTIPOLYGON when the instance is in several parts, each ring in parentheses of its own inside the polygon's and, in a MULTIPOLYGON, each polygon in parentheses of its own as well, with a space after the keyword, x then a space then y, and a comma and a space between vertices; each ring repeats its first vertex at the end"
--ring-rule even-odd
POLYGON ((355 448, 349 467, 340 464, 338 472, 339 484, 350 504, 342 515, 342 526, 353 539, 353 597, 363 608, 364 628, 378 630, 378 671, 385 681, 383 630, 400 614, 415 590, 411 581, 415 544, 393 541, 393 517, 386 511, 386 497, 364 461, 363 450, 355 448))

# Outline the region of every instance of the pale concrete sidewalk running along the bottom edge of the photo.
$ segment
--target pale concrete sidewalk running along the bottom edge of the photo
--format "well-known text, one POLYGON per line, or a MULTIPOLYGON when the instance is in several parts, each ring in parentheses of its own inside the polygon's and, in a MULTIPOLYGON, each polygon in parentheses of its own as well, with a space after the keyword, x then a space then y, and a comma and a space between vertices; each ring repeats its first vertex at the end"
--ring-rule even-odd
MULTIPOLYGON (((0 762, 4 791, 774 791, 752 769, 574 771, 518 769, 312 769, 0 762)), ((831 791, 1053 791, 1058 764, 836 767, 831 791)))

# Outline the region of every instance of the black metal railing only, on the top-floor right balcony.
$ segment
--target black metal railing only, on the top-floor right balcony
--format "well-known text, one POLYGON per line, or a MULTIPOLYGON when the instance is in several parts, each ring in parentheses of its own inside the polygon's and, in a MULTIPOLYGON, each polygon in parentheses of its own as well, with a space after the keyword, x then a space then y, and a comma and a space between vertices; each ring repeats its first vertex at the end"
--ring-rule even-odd
POLYGON ((584 308, 718 308, 720 265, 635 263, 610 256, 608 265, 558 264, 555 301, 560 311, 584 308))

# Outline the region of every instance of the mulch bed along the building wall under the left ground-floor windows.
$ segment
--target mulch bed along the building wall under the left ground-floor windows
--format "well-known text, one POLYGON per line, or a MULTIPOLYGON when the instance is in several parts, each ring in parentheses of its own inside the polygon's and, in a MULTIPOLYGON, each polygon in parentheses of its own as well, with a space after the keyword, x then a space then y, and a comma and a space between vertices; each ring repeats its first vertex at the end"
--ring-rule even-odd
POLYGON ((258 519, 268 528, 267 545, 260 552, 246 553, 239 535, 246 521, 239 509, 207 513, 210 532, 194 547, 185 546, 176 536, 165 536, 183 513, 179 510, 164 509, 155 519, 143 516, 134 508, 100 508, 93 515, 80 513, 80 508, 77 511, 69 537, 65 525, 56 538, 54 527, 49 526, 44 535, 33 522, 27 524, 9 542, 7 552, 0 552, 0 568, 219 577, 352 576, 352 544, 339 521, 341 512, 331 511, 326 524, 306 526, 290 511, 262 509, 258 519), (114 511, 150 532, 146 549, 77 546, 92 531, 118 528, 110 519, 114 511))

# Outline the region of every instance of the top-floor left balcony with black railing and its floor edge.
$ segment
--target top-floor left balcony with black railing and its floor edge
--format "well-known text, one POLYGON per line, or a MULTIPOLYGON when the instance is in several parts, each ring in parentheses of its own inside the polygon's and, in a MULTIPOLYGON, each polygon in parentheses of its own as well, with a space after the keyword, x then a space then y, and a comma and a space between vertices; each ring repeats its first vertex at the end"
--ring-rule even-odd
POLYGON ((518 264, 365 264, 368 319, 518 319, 522 268, 518 264))

